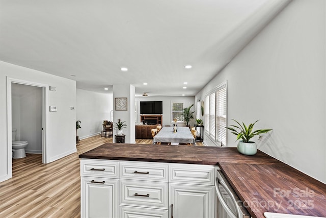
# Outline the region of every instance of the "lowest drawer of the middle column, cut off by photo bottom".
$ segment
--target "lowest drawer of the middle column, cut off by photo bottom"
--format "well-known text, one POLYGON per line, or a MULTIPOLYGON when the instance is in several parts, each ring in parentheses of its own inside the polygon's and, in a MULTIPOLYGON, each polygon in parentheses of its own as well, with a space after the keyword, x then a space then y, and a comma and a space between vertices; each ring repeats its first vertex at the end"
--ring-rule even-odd
POLYGON ((152 208, 141 207, 120 207, 121 218, 134 218, 134 217, 146 217, 146 218, 168 218, 168 210, 159 210, 152 208))

